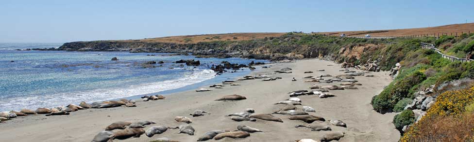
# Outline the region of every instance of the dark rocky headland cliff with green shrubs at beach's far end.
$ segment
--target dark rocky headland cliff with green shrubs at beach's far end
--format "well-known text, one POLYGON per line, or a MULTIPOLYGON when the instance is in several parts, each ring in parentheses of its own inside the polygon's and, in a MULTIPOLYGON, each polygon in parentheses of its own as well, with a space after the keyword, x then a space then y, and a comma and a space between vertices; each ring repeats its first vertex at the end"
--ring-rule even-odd
POLYGON ((317 34, 287 33, 247 41, 206 41, 198 43, 162 43, 135 41, 91 41, 64 43, 66 51, 129 51, 192 53, 197 57, 245 57, 284 60, 321 57, 356 43, 372 43, 369 39, 339 38, 317 34))

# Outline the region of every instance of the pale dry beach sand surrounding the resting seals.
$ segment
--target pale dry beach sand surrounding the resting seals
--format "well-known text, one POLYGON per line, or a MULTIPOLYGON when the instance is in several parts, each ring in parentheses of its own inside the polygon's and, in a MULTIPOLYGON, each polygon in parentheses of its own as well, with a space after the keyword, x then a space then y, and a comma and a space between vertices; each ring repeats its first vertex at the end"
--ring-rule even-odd
MULTIPOLYGON (((314 83, 305 83, 303 77, 321 74, 342 74, 337 64, 319 59, 300 60, 294 63, 277 63, 269 69, 253 71, 252 74, 268 73, 284 67, 293 69, 293 73, 280 73, 273 76, 282 77, 276 81, 263 82, 262 79, 238 81, 240 86, 226 85, 223 89, 212 89, 210 92, 194 90, 168 95, 165 100, 137 101, 135 108, 89 109, 62 116, 23 116, 0 124, 0 142, 90 142, 92 138, 109 124, 115 121, 149 120, 157 124, 151 126, 178 126, 175 116, 188 116, 194 110, 208 111, 210 115, 191 117, 192 127, 196 129, 193 136, 178 134, 178 130, 169 129, 152 138, 142 135, 140 138, 116 140, 118 142, 149 142, 157 138, 168 137, 171 140, 194 142, 209 130, 237 130, 237 125, 248 125, 265 132, 251 133, 244 139, 225 138, 223 142, 294 142, 299 139, 319 138, 328 131, 311 131, 308 128, 294 128, 306 124, 298 120, 289 120, 288 115, 274 114, 284 123, 257 120, 256 122, 236 122, 226 114, 237 113, 246 108, 255 109, 255 113, 271 113, 283 105, 274 103, 288 99, 288 92, 308 89, 314 83), (327 66, 334 65, 334 66, 327 66), (324 69, 325 71, 316 71, 324 69), (314 73, 303 73, 314 71, 314 73), (295 77, 298 81, 292 82, 295 77), (239 101, 214 101, 224 95, 238 94, 247 97, 239 101)), ((391 79, 386 72, 372 72, 375 77, 356 76, 363 84, 358 90, 334 90, 329 93, 336 97, 320 99, 316 95, 299 96, 304 106, 316 109, 315 116, 328 119, 340 119, 347 123, 347 128, 331 126, 333 131, 346 132, 341 142, 396 142, 400 133, 391 123, 395 114, 378 114, 370 105, 372 96, 378 94, 391 79)), ((339 85, 339 82, 330 85, 339 85)), ((326 85, 322 83, 320 85, 326 85)), ((203 86, 209 88, 208 86, 203 86)), ((301 106, 297 106, 301 108, 301 106)), ((328 124, 328 122, 325 122, 328 124)), ((214 141, 214 140, 209 140, 214 141)))

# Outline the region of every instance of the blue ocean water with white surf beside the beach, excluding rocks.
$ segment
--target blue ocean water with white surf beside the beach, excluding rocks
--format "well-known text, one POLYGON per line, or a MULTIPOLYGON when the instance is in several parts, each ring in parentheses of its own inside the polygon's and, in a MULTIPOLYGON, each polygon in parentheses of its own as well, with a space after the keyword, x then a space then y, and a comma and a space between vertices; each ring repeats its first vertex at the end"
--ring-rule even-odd
POLYGON ((216 75, 221 61, 248 64, 254 59, 195 58, 164 53, 16 51, 59 47, 61 43, 0 43, 0 111, 35 109, 110 99, 169 94, 249 74, 248 69, 216 75), (155 56, 147 56, 153 54, 155 56), (119 61, 111 61, 117 57, 119 61), (180 59, 201 66, 180 66, 180 59), (14 62, 11 62, 14 61, 14 62), (146 61, 164 61, 143 68, 146 61))

